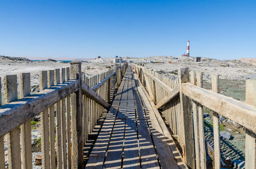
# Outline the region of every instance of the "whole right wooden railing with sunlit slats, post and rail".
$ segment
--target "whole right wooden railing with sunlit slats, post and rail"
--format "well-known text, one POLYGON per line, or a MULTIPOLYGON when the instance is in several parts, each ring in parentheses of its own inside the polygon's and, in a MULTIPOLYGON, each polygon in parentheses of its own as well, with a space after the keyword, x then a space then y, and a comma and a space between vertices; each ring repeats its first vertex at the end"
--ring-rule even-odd
POLYGON ((245 168, 256 167, 256 80, 246 80, 246 103, 243 103, 218 94, 218 75, 211 76, 212 90, 209 91, 202 88, 202 72, 180 68, 177 78, 172 80, 144 66, 133 64, 133 68, 177 138, 190 168, 206 168, 203 107, 213 114, 214 168, 221 166, 220 115, 244 126, 245 168))

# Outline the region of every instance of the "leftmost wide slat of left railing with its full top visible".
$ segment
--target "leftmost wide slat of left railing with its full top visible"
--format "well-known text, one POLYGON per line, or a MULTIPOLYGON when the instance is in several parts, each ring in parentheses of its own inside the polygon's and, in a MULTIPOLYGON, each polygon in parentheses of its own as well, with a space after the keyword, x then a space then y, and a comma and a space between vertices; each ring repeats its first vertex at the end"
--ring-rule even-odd
MULTIPOLYGON (((17 76, 6 75, 4 77, 4 102, 10 103, 17 99, 17 76)), ((6 122, 6 121, 5 121, 6 122)), ((6 124, 6 123, 3 123, 6 124)), ((4 125, 1 125, 4 126, 4 125)), ((8 126, 8 125, 5 125, 8 126)), ((20 161, 20 131, 19 127, 15 126, 10 133, 7 134, 8 145, 8 163, 10 169, 21 168, 20 161)))

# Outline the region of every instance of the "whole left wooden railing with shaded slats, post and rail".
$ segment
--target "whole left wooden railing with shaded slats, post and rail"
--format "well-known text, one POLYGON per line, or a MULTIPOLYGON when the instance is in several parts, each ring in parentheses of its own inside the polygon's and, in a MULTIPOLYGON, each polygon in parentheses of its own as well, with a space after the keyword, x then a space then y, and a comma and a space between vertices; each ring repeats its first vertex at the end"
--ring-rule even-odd
POLYGON ((40 71, 40 92, 35 94, 30 92, 30 74, 20 73, 19 99, 17 75, 6 75, 4 105, 0 107, 0 168, 5 168, 4 136, 8 168, 32 168, 31 118, 38 114, 42 168, 83 168, 88 133, 104 108, 108 110, 126 68, 124 64, 82 78, 81 62, 70 62, 70 68, 40 71))

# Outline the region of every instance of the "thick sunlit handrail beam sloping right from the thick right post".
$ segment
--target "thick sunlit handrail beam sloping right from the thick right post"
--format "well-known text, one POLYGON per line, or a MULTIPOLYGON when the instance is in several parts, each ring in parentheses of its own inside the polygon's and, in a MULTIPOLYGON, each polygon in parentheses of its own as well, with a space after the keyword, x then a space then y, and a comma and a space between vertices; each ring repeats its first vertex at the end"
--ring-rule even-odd
POLYGON ((228 119, 241 124, 247 129, 256 133, 255 119, 256 107, 237 101, 228 96, 223 96, 216 92, 202 89, 193 84, 182 84, 182 93, 189 98, 197 101, 202 106, 211 109, 212 111, 223 115, 228 119), (240 118, 243 117, 243 118, 240 118))

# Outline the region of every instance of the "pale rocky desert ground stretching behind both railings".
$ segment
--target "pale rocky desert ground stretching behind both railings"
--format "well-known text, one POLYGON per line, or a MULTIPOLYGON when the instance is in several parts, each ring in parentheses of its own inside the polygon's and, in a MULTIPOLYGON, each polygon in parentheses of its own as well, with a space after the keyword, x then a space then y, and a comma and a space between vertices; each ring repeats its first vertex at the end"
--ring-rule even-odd
MULTIPOLYGON (((114 58, 100 59, 80 59, 82 61, 82 71, 88 76, 97 75, 113 68, 114 58)), ((124 58, 129 62, 144 62, 145 66, 151 70, 158 71, 170 77, 177 77, 177 69, 189 67, 189 70, 204 72, 204 88, 211 89, 211 74, 220 75, 220 93, 231 96, 235 99, 244 101, 245 80, 256 79, 256 59, 237 59, 220 61, 216 59, 202 58, 201 62, 195 62, 193 57, 170 57, 170 56, 154 56, 143 58, 124 58), (152 63, 152 62, 159 63, 152 63)), ((31 91, 38 91, 39 71, 54 70, 70 66, 67 62, 54 61, 31 61, 22 57, 5 57, 0 56, 0 77, 3 86, 4 75, 18 75, 19 73, 31 73, 31 91)), ((19 89, 19 88, 18 88, 19 89)), ((2 87, 3 93, 3 87, 2 87)), ((205 113, 209 113, 205 110, 205 113)), ((205 138, 212 143, 212 119, 211 112, 205 118, 205 138)), ((223 131, 232 134, 232 140, 221 138, 221 156, 223 159, 241 159, 244 160, 244 133, 241 126, 237 126, 233 122, 225 119, 223 123, 223 131), (230 148, 235 147, 235 148, 230 148)), ((40 155, 40 117, 36 117, 31 122, 31 136, 33 145, 33 156, 40 155)), ((4 139, 4 150, 7 153, 6 138, 4 139)), ((6 156, 7 158, 7 156, 6 156)), ((34 158, 33 158, 34 159, 34 158)), ((33 161, 33 164, 35 161, 33 161)), ((8 163, 6 163, 8 165, 8 163)), ((40 166, 36 166, 40 168, 40 166)))

